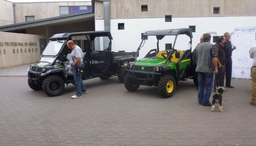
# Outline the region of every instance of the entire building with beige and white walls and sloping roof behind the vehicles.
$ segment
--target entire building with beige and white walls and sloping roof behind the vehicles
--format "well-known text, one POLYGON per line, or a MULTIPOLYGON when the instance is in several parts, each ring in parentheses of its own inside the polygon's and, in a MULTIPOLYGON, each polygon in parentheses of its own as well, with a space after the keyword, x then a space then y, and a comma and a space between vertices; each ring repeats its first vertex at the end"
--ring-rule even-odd
MULTIPOLYGON (((234 28, 256 27, 255 0, 92 0, 11 3, 0 0, 0 31, 42 35, 110 31, 113 51, 136 51, 146 31, 191 28, 192 48, 203 33, 214 43, 234 28)), ((233 34, 233 33, 232 33, 233 34)), ((152 46, 155 45, 155 42, 152 46)), ((183 40, 177 40, 188 48, 183 40)), ((172 45, 172 44, 171 44, 172 45)), ((160 46, 166 48, 166 45, 160 46)), ((101 48, 104 49, 104 48, 101 48)), ((151 48, 154 49, 154 48, 151 48)), ((141 57, 143 53, 141 51, 141 57)))

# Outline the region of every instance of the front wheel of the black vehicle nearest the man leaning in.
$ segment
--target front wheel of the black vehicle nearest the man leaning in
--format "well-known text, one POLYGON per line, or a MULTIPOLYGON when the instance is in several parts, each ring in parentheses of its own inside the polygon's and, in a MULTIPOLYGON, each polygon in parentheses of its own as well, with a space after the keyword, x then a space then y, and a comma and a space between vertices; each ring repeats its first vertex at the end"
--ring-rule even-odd
POLYGON ((43 91, 48 96, 59 96, 65 87, 64 80, 57 75, 48 76, 43 81, 43 91))

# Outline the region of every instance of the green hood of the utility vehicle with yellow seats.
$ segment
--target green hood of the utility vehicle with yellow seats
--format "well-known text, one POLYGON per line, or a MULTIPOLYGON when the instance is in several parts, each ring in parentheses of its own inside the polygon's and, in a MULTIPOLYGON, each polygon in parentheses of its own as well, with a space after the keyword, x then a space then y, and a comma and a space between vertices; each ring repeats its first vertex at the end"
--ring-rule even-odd
POLYGON ((163 64, 166 59, 163 58, 142 58, 134 63, 135 66, 158 66, 163 64))

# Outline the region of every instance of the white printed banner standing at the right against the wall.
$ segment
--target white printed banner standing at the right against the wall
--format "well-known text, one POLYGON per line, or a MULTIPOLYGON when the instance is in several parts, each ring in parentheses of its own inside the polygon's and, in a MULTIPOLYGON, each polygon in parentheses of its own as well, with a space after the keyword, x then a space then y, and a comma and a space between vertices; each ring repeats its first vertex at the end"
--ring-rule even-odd
POLYGON ((249 50, 256 44, 255 33, 256 27, 234 28, 231 42, 237 49, 232 54, 232 78, 251 79, 253 59, 249 50))

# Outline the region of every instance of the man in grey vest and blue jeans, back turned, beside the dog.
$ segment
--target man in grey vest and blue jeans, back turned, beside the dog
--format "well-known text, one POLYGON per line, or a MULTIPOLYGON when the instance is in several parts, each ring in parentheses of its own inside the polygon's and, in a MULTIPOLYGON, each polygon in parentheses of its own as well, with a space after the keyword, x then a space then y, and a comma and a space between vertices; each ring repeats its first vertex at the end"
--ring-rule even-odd
POLYGON ((212 93, 214 74, 218 73, 215 49, 210 44, 210 34, 203 35, 203 41, 196 50, 196 72, 198 72, 198 102, 203 106, 212 106, 209 98, 212 93))

